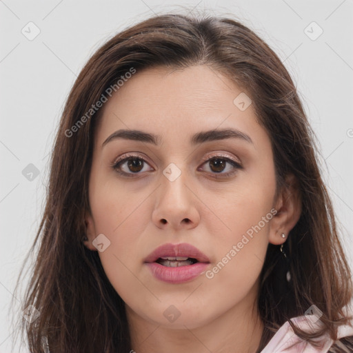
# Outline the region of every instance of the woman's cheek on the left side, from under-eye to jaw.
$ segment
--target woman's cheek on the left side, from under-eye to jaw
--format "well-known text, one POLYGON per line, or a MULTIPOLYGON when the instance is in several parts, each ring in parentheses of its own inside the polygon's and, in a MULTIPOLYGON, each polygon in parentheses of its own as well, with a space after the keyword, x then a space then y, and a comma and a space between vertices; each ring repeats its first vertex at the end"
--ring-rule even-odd
POLYGON ((150 192, 129 192, 116 180, 95 185, 90 190, 95 232, 110 241, 99 257, 110 283, 126 301, 131 290, 141 292, 141 282, 134 273, 142 261, 139 241, 150 220, 144 202, 150 192))

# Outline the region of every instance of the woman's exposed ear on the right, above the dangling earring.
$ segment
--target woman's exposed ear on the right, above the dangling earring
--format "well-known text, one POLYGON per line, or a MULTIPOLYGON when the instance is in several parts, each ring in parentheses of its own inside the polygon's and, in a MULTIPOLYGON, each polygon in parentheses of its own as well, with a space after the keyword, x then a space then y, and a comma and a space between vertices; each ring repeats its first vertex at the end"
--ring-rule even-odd
POLYGON ((270 243, 279 245, 288 239, 288 234, 301 216, 301 194, 299 183, 293 174, 285 177, 285 185, 280 190, 274 208, 277 213, 270 223, 270 243), (285 234, 285 238, 281 234, 285 234))

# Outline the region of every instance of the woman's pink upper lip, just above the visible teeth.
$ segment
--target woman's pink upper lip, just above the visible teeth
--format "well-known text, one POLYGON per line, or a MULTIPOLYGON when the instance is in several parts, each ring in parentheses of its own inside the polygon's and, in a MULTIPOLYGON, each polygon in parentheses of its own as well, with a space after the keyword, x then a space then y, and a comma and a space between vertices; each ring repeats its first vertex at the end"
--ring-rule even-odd
POLYGON ((151 252, 146 258, 145 262, 154 262, 160 257, 191 257, 199 262, 209 263, 208 257, 203 254, 199 249, 195 248, 193 245, 188 243, 180 244, 163 244, 151 252))

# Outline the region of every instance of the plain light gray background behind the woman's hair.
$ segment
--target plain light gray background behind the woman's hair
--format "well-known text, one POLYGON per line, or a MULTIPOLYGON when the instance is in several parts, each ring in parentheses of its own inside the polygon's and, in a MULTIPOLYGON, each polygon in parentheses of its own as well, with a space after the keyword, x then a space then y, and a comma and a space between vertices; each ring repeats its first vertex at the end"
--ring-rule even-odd
MULTIPOLYGON (((352 0, 178 4, 195 13, 236 17, 285 61, 320 142, 324 178, 353 266, 352 0)), ((154 13, 178 9, 173 1, 161 0, 0 0, 0 352, 10 352, 14 340, 9 304, 39 225, 48 154, 77 74, 113 34, 154 13), (30 175, 32 180, 30 163, 39 172, 30 175)), ((14 301, 21 305, 21 297, 14 301)))

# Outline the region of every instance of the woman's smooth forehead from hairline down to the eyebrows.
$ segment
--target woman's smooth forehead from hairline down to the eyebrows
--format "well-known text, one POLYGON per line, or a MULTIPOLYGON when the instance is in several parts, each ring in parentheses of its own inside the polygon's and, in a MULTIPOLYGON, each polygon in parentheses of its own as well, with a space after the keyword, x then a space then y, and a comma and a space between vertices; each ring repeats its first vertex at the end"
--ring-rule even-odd
POLYGON ((105 103, 96 142, 101 145, 119 129, 152 132, 168 141, 216 128, 264 134, 252 105, 242 111, 234 104, 241 93, 233 81, 205 65, 137 70, 105 103))

